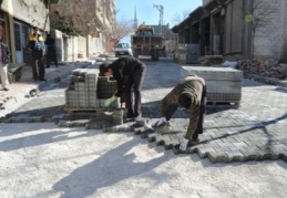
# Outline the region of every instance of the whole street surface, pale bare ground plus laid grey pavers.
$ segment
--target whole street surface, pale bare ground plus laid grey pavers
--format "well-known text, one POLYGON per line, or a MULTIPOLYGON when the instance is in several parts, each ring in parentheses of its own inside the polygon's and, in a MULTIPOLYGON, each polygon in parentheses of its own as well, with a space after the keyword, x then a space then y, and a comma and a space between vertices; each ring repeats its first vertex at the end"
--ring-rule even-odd
MULTIPOLYGON (((143 116, 155 121, 160 100, 181 79, 181 65, 168 59, 144 62, 143 116)), ((0 123, 1 197, 267 198, 287 194, 286 88, 244 79, 240 107, 209 105, 201 139, 211 140, 198 145, 197 152, 175 155, 133 132, 55 125, 52 117, 65 114, 69 81, 17 108, 8 116, 13 123, 0 123), (237 161, 244 150, 256 160, 237 161), (226 158, 215 156, 218 161, 211 163, 207 154, 224 152, 226 158)), ((172 125, 184 131, 188 117, 177 110, 172 125)))

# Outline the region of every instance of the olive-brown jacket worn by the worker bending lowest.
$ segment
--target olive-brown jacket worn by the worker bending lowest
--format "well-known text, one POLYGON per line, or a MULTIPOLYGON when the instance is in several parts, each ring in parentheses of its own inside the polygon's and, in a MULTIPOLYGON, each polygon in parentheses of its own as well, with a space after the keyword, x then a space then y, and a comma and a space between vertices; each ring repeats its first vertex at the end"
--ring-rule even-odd
POLYGON ((194 134, 199 119, 201 102, 205 81, 196 75, 185 77, 180 82, 161 102, 161 114, 167 119, 172 117, 176 108, 180 106, 178 96, 181 93, 189 93, 193 97, 193 103, 188 111, 191 112, 189 125, 186 133, 186 138, 191 138, 194 134))

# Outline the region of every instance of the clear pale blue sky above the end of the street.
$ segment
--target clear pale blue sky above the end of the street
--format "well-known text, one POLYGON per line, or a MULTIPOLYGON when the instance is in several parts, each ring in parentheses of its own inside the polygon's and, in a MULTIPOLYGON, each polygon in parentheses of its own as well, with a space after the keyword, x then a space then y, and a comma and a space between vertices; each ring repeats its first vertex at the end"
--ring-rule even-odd
POLYGON ((163 6, 163 23, 173 28, 180 17, 184 20, 184 13, 191 13, 203 4, 203 0, 115 0, 116 19, 134 20, 136 9, 137 24, 158 24, 160 11, 154 6, 163 6))

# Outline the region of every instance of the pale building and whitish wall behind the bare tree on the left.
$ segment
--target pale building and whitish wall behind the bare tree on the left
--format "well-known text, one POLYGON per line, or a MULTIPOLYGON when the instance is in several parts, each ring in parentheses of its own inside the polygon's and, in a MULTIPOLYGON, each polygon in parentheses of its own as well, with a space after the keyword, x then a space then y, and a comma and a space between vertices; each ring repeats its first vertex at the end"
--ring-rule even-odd
MULTIPOLYGON (((76 9, 79 4, 75 1, 66 1, 63 4, 60 2, 51 7, 51 12, 54 13, 60 10, 64 15, 66 13, 63 10, 68 6, 76 9), (60 7, 61 9, 59 9, 60 7)), ((69 35, 57 30, 51 23, 51 29, 57 35, 58 52, 61 52, 58 55, 62 61, 75 61, 85 56, 106 53, 111 49, 110 40, 115 20, 115 1, 86 0, 81 6, 81 8, 78 8, 76 14, 82 17, 74 18, 73 23, 81 30, 86 31, 88 35, 69 35)), ((68 14, 75 15, 71 11, 68 14)))

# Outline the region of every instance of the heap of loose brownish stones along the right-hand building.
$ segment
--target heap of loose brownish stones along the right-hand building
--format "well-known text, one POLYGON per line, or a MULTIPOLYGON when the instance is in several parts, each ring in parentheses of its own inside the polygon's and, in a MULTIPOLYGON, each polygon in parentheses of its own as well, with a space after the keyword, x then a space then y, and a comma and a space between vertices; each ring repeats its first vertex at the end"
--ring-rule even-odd
POLYGON ((247 74, 287 80, 287 64, 277 63, 275 61, 266 61, 262 63, 255 59, 242 60, 238 61, 236 69, 242 70, 247 74))

